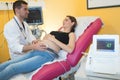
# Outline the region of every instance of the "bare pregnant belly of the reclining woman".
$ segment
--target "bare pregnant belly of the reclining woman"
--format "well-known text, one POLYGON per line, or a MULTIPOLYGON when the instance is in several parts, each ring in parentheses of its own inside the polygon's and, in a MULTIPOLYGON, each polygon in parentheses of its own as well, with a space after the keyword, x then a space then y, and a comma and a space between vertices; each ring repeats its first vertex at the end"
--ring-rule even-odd
POLYGON ((51 42, 50 40, 42 40, 42 42, 47 45, 48 48, 54 50, 55 52, 59 52, 60 47, 58 45, 56 45, 55 43, 51 42))

